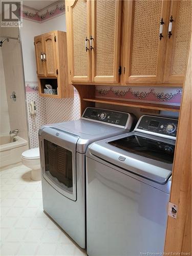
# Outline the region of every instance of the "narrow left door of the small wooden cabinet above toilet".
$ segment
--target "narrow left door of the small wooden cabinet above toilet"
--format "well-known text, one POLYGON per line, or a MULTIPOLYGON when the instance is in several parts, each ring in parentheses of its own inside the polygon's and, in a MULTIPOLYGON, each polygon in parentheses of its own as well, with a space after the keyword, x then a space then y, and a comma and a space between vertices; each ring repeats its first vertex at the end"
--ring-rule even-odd
POLYGON ((45 65, 43 60, 44 53, 44 42, 42 36, 34 37, 34 45, 35 45, 35 57, 36 57, 36 67, 37 67, 37 76, 44 77, 45 74, 45 65))

